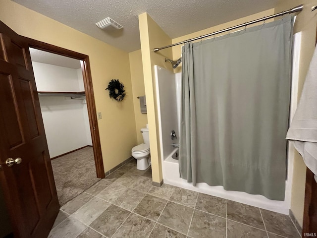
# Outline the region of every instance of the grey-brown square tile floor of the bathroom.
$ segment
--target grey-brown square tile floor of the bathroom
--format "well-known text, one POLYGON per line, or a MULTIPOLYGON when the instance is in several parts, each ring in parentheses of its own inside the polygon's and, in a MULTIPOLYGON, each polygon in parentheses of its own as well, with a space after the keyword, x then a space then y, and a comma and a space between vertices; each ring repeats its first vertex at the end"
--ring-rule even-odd
POLYGON ((50 238, 300 238, 289 216, 163 184, 135 161, 61 207, 50 238))

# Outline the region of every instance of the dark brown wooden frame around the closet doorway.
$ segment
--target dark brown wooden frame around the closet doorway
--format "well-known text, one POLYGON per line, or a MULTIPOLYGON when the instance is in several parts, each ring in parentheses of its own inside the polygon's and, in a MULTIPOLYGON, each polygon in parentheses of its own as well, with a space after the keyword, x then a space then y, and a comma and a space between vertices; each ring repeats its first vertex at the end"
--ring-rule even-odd
POLYGON ((54 46, 45 42, 34 40, 28 37, 26 37, 26 39, 28 41, 29 47, 31 48, 73 58, 76 60, 81 60, 81 68, 82 68, 83 79, 84 79, 88 117, 89 117, 89 126, 90 126, 92 141, 93 141, 93 150, 94 150, 97 178, 101 178, 101 179, 105 178, 104 162, 103 162, 103 156, 101 151, 97 111, 96 111, 96 104, 95 104, 95 97, 94 97, 94 90, 93 90, 93 82, 91 77, 89 56, 75 52, 75 51, 67 50, 58 46, 54 46))

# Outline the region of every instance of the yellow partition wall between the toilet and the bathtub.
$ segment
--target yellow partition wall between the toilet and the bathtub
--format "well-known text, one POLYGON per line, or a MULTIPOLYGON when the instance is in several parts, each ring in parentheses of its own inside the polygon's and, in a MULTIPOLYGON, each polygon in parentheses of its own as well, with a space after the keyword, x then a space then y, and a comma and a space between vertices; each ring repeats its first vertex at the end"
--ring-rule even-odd
POLYGON ((144 86, 147 98, 148 123, 150 133, 150 150, 152 161, 152 178, 154 182, 162 181, 162 167, 159 150, 159 127, 155 88, 154 65, 159 65, 172 71, 169 62, 164 58, 172 58, 172 50, 154 53, 153 49, 170 45, 172 40, 162 31, 158 24, 145 12, 139 15, 139 28, 142 51, 144 86))

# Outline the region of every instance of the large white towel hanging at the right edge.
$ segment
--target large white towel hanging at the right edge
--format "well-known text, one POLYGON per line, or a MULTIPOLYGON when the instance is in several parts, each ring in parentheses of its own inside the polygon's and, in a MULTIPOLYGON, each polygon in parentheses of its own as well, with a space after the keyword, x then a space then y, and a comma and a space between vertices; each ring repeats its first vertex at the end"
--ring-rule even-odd
POLYGON ((296 150, 317 181, 317 47, 286 139, 294 140, 296 150))

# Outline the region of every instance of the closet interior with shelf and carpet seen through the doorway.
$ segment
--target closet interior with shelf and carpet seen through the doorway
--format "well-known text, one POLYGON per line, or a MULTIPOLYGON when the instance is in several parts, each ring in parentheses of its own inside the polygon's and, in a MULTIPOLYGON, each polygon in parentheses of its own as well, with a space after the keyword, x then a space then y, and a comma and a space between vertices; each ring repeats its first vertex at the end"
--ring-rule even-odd
POLYGON ((80 60, 30 48, 59 204, 98 181, 80 60))

